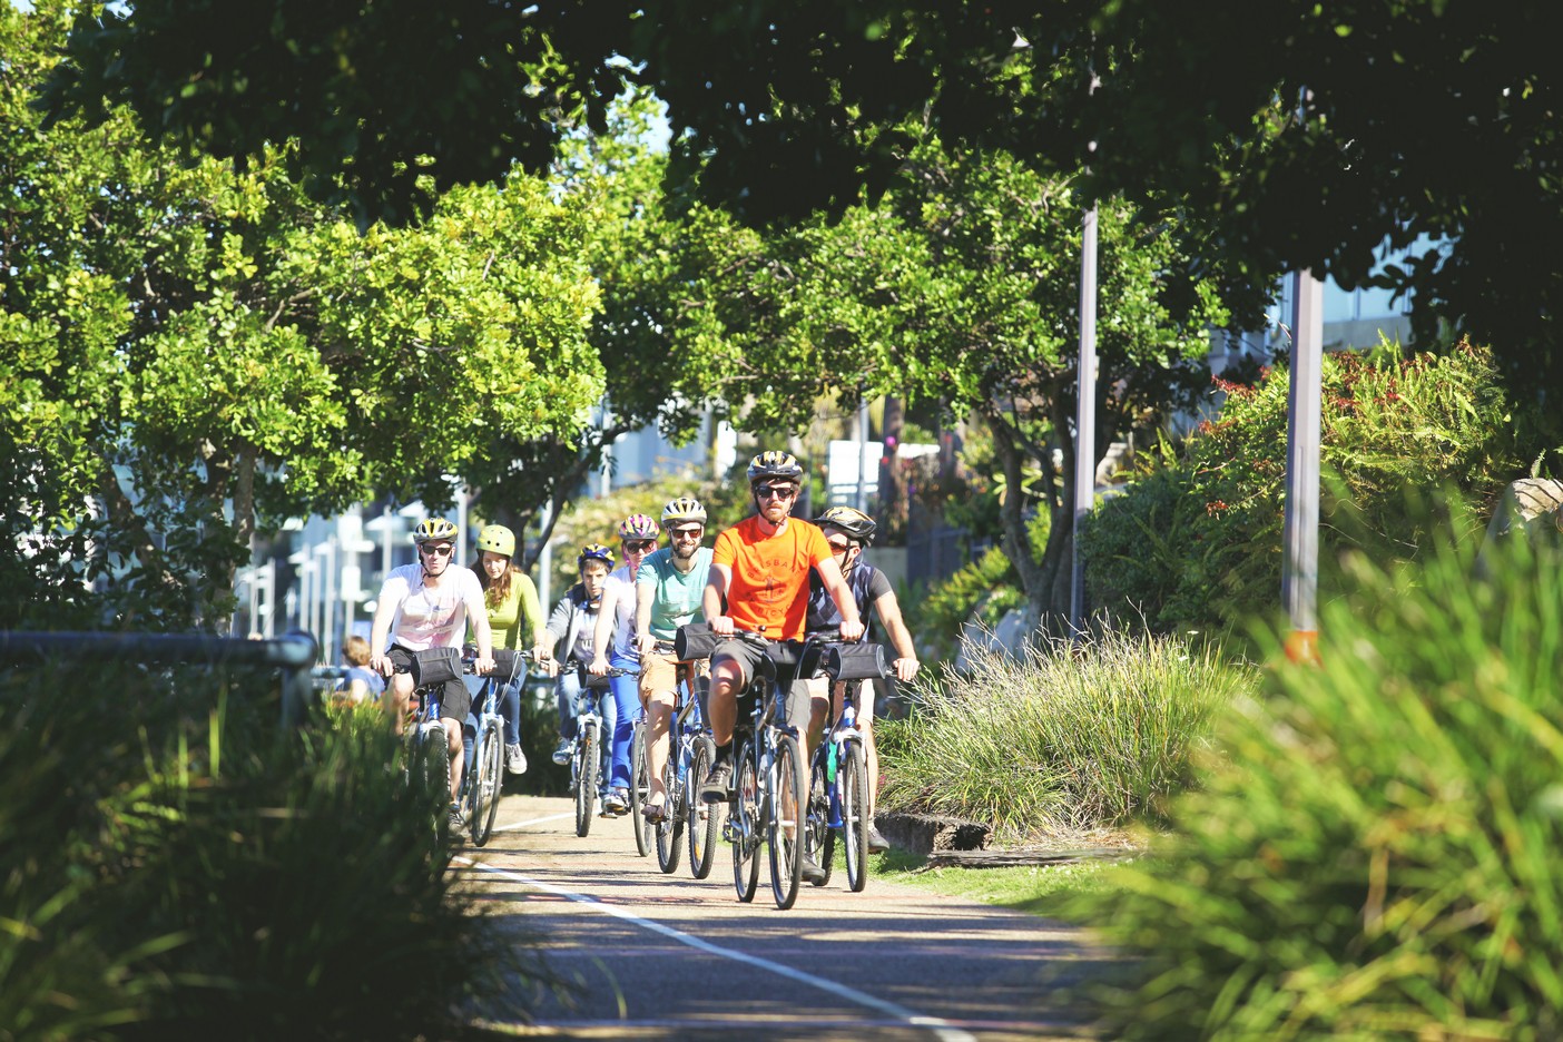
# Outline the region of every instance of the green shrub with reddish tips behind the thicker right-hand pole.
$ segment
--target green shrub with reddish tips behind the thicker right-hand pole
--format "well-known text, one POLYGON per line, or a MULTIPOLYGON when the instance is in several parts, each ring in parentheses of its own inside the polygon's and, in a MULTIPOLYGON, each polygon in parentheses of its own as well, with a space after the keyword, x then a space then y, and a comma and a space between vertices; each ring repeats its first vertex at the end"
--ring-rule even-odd
MULTIPOLYGON (((1285 369, 1227 392, 1182 453, 1091 516, 1082 539, 1094 609, 1143 617, 1155 631, 1246 630, 1280 592, 1286 475, 1285 369)), ((1324 358, 1321 592, 1338 589, 1338 555, 1415 559, 1429 537, 1408 492, 1457 487, 1477 526, 1540 445, 1507 401, 1491 353, 1400 359, 1394 348, 1324 358)))

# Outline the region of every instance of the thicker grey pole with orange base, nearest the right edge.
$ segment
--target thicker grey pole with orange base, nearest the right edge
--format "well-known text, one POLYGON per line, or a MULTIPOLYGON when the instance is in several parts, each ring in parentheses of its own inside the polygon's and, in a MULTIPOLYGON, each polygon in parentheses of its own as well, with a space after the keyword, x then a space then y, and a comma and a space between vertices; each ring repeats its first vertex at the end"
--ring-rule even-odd
POLYGON ((1302 270, 1291 302, 1286 391, 1286 522, 1280 595, 1291 619, 1286 656, 1319 661, 1319 394, 1324 383, 1324 284, 1302 270))

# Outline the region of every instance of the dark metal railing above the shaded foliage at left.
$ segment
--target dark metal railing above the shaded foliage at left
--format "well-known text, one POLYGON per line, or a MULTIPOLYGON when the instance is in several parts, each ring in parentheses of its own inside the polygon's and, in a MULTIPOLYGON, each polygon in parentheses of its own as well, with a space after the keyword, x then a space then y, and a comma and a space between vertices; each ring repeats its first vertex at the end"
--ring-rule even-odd
POLYGON ((30 633, 0 630, 0 662, 161 662, 274 667, 281 678, 281 723, 295 726, 313 697, 309 636, 274 641, 167 633, 30 633))

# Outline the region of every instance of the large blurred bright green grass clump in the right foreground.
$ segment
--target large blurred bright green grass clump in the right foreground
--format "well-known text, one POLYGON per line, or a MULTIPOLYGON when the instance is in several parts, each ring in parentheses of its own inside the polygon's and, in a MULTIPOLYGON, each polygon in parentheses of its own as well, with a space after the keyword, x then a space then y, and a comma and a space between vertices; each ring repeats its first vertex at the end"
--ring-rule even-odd
POLYGON ((1125 1037, 1563 1036, 1563 561, 1490 555, 1357 559, 1322 667, 1277 667, 1158 867, 1078 909, 1141 956, 1125 1037))

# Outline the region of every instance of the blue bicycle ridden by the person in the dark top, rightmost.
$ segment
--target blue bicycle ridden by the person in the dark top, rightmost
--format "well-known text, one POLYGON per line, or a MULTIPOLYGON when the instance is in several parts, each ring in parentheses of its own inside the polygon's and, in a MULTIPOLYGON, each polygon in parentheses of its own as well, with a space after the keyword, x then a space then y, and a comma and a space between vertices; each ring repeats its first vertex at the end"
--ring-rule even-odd
POLYGON ((847 862, 847 886, 861 894, 867 886, 869 814, 867 814, 867 755, 863 750, 863 731, 857 722, 857 691, 860 681, 885 676, 883 648, 877 644, 822 644, 821 672, 830 680, 830 687, 846 684, 841 714, 821 737, 810 761, 808 797, 808 850, 824 870, 824 878, 814 886, 830 883, 832 861, 836 851, 836 833, 847 862))

